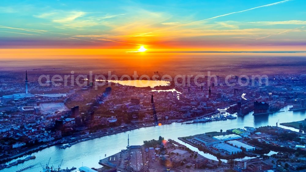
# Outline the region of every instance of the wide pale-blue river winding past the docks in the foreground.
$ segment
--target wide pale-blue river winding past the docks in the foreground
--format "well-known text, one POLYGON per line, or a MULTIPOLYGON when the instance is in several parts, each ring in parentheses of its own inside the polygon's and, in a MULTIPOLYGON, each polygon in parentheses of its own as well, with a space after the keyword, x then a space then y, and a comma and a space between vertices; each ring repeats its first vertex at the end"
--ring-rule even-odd
MULTIPOLYGON (((130 137, 130 145, 141 145, 144 140, 157 140, 159 136, 163 136, 165 139, 173 139, 182 144, 182 141, 178 140, 177 137, 182 136, 191 136, 195 134, 201 134, 212 131, 226 131, 227 129, 234 128, 243 128, 244 126, 249 127, 260 127, 267 125, 276 125, 276 122, 279 120, 279 123, 282 122, 293 122, 300 121, 306 118, 306 111, 287 111, 291 106, 285 106, 280 111, 285 112, 276 112, 273 114, 265 114, 253 116, 253 112, 241 117, 238 116, 237 119, 227 120, 227 121, 216 121, 216 122, 207 122, 207 123, 197 123, 197 124, 187 124, 181 125, 181 123, 174 122, 170 125, 161 125, 161 126, 153 126, 147 128, 140 128, 131 131, 127 131, 124 133, 118 133, 115 135, 104 136, 100 138, 96 138, 93 140, 88 140, 85 142, 81 142, 71 146, 66 149, 59 149, 61 145, 52 146, 50 148, 43 149, 39 152, 34 153, 36 159, 29 160, 24 163, 18 164, 17 166, 12 166, 10 168, 6 168, 0 170, 1 172, 13 172, 19 170, 21 168, 35 165, 34 167, 24 170, 24 172, 33 172, 33 171, 42 171, 42 168, 39 163, 43 165, 46 164, 51 157, 50 165, 54 165, 58 167, 63 160, 62 168, 71 168, 72 166, 76 166, 77 168, 82 166, 95 167, 98 168, 100 165, 98 164, 99 159, 105 158, 104 155, 107 156, 113 155, 120 151, 121 149, 126 148, 128 134, 130 137)), ((297 129, 293 129, 290 127, 285 127, 279 125, 280 127, 291 129, 294 131, 298 131, 297 129)), ((197 148, 194 148, 188 144, 185 144, 192 150, 198 151, 197 148)), ((205 154, 203 152, 199 152, 201 155, 204 155, 210 159, 216 159, 214 156, 205 154)), ((248 157, 246 157, 248 158, 248 157)), ((13 161, 16 161, 13 160, 13 161)))

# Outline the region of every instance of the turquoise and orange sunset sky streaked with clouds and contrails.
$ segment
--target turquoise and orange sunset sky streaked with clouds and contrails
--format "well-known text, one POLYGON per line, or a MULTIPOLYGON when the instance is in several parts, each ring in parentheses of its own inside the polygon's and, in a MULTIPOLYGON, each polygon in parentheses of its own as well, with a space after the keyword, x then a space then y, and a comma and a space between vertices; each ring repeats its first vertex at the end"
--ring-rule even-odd
POLYGON ((2 0, 0 54, 306 51, 306 1, 2 0), (74 51, 74 49, 78 49, 74 51))

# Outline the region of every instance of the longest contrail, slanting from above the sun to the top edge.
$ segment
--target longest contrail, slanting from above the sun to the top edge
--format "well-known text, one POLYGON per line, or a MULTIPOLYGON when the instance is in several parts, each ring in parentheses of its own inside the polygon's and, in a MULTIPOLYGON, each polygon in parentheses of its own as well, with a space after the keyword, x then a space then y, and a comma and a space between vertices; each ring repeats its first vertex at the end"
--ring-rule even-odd
MULTIPOLYGON (((128 38, 137 37, 137 36, 143 36, 143 35, 147 35, 147 34, 153 33, 153 32, 158 32, 158 31, 167 30, 167 29, 170 29, 170 28, 175 28, 175 27, 185 26, 185 25, 189 25, 189 24, 194 24, 194 23, 198 23, 198 22, 201 22, 201 21, 207 21, 207 20, 211 20, 211 19, 215 19, 215 18, 219 18, 219 17, 228 16, 228 15, 231 15, 231 14, 242 13, 242 12, 245 12, 245 11, 250 11, 250 10, 253 10, 253 9, 262 8, 262 7, 266 7, 266 6, 274 6, 274 5, 277 5, 277 4, 280 4, 280 3, 284 3, 284 2, 287 2, 287 1, 292 1, 292 0, 284 0, 284 1, 280 1, 280 2, 274 2, 272 4, 267 4, 267 5, 263 5, 263 6, 258 6, 258 7, 250 8, 250 9, 245 9, 245 10, 242 10, 242 11, 236 11, 236 12, 232 12, 232 13, 227 13, 227 14, 223 14, 223 15, 219 15, 219 16, 215 16, 215 17, 211 17, 211 18, 207 18, 207 19, 203 19, 203 20, 199 20, 199 21, 193 21, 191 23, 179 24, 179 25, 175 25, 173 27, 159 29, 159 30, 156 30, 156 31, 147 32, 147 33, 143 33, 143 34, 135 35, 135 36, 130 36, 130 37, 123 38, 123 39, 128 39, 128 38)), ((119 40, 122 40, 122 39, 119 39, 119 40)))

